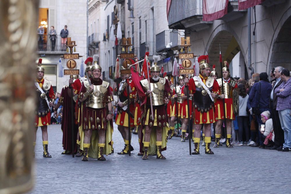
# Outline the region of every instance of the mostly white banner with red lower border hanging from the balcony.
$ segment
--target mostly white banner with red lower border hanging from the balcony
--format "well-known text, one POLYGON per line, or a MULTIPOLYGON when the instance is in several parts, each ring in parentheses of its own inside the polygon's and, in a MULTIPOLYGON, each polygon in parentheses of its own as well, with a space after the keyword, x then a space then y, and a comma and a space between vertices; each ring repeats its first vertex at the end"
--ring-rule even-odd
POLYGON ((213 21, 227 14, 228 0, 203 0, 203 21, 213 21))

